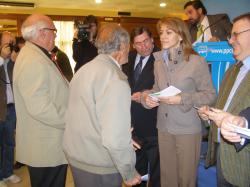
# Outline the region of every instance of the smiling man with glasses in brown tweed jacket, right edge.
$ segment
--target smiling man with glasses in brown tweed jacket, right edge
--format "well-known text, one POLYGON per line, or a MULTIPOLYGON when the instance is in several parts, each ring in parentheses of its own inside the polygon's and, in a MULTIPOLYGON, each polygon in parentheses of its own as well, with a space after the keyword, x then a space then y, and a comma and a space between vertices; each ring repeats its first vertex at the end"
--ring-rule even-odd
MULTIPOLYGON (((250 106, 250 13, 238 16, 233 21, 229 43, 233 47, 233 54, 237 63, 225 75, 220 86, 216 108, 233 115, 238 115, 250 106)), ((246 186, 250 184, 250 145, 236 152, 234 145, 217 136, 225 115, 217 109, 202 107, 199 110, 203 119, 213 120, 209 136, 207 164, 215 160, 214 147, 220 140, 217 157, 218 186, 246 186), (216 124, 216 125, 215 125, 216 124)), ((217 144, 219 145, 219 144, 217 144)))

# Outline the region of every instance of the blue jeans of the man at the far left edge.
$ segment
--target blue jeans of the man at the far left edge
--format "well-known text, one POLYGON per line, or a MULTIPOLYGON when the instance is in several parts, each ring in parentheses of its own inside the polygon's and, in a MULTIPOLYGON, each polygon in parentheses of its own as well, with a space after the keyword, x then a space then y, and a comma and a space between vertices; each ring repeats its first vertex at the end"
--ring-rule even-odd
POLYGON ((6 120, 0 122, 0 180, 13 174, 16 111, 8 105, 6 120))

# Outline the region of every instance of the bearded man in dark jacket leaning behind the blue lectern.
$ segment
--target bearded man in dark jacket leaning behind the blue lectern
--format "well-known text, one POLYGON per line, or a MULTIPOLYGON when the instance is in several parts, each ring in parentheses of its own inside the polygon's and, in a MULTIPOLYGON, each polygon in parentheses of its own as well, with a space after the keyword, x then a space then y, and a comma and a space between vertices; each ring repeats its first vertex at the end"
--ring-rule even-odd
POLYGON ((187 2, 184 10, 188 16, 192 42, 227 40, 232 24, 226 14, 207 15, 207 10, 200 0, 187 2))

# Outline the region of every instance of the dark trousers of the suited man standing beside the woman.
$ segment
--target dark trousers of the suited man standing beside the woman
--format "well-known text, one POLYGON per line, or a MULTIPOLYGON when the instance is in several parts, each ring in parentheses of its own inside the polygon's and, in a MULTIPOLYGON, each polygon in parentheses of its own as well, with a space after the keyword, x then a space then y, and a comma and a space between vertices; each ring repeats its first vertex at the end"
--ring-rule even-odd
MULTIPOLYGON (((148 137, 142 140, 142 148, 136 151, 136 170, 140 175, 149 174, 148 187, 160 187, 160 158, 158 137, 148 137)), ((136 187, 146 187, 142 182, 136 187)))

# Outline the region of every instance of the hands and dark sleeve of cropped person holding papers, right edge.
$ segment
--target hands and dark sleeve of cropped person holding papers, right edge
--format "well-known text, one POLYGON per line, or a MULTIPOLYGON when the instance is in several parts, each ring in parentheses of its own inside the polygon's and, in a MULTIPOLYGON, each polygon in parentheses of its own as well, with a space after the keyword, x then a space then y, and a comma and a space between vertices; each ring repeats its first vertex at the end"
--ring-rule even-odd
POLYGON ((241 111, 239 116, 229 114, 226 116, 221 123, 221 134, 222 136, 230 141, 234 142, 237 151, 242 150, 250 139, 241 138, 239 134, 235 133, 232 124, 250 129, 250 107, 241 111))

